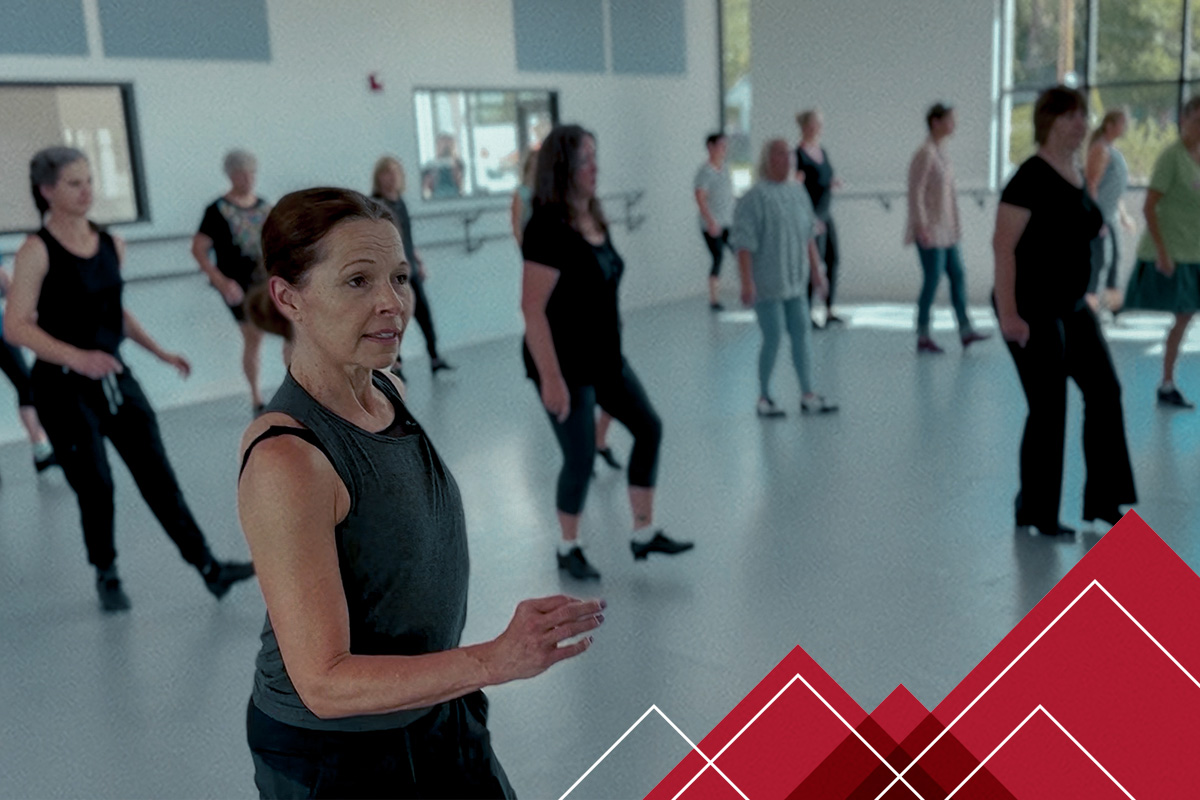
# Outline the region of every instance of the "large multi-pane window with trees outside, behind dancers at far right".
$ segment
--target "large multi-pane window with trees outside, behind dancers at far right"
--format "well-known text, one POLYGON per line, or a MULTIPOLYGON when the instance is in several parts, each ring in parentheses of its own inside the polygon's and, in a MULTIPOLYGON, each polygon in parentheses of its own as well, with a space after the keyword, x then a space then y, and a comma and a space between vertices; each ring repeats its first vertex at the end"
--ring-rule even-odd
POLYGON ((1124 108, 1118 146, 1135 185, 1177 136, 1182 104, 1200 91, 1200 0, 1006 0, 1001 97, 1003 180, 1036 150, 1033 102, 1055 83, 1087 94, 1093 125, 1124 108), (1190 20, 1190 24, 1188 24, 1190 20))

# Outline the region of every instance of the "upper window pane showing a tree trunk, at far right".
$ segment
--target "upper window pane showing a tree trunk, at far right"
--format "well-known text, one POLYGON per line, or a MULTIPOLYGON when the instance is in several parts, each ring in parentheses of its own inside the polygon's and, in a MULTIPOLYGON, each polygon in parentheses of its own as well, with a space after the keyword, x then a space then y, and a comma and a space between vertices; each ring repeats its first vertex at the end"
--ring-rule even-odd
POLYGON ((1081 84, 1087 67, 1087 0, 1012 1, 1013 85, 1081 84))

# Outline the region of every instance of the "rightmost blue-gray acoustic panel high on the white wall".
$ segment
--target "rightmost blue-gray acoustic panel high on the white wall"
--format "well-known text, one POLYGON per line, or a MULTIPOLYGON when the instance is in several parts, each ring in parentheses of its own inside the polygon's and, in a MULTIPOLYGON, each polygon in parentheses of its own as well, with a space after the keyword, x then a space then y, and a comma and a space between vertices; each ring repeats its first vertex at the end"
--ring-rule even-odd
POLYGON ((624 74, 688 72, 683 0, 610 0, 612 71, 624 74))

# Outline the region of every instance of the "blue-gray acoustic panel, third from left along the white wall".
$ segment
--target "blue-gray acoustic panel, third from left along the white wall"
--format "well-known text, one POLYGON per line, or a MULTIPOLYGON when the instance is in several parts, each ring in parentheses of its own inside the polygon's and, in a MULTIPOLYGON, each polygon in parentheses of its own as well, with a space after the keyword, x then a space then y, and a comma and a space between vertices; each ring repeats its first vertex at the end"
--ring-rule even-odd
POLYGON ((600 0, 512 0, 517 70, 604 72, 600 0))

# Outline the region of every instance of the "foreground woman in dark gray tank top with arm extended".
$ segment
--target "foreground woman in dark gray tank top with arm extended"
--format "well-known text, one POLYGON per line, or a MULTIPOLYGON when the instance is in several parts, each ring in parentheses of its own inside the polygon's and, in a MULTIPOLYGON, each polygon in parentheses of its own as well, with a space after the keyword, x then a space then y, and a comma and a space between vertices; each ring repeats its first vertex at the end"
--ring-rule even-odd
POLYGON ((390 212, 348 190, 288 194, 263 229, 256 323, 289 372, 242 439, 238 507, 266 600, 247 738, 263 798, 511 798, 484 686, 583 652, 604 602, 517 606, 460 646, 458 486, 388 372, 413 313, 390 212))

